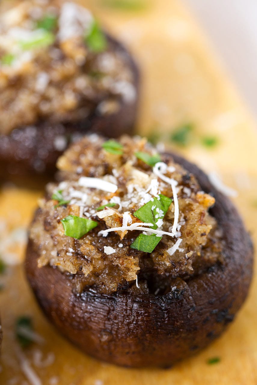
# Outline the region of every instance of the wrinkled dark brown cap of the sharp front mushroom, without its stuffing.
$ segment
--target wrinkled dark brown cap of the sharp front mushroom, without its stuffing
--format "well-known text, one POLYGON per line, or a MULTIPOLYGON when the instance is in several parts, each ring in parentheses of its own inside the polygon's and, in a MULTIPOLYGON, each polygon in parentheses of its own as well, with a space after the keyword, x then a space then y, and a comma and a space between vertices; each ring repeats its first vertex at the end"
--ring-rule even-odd
POLYGON ((27 248, 27 278, 45 315, 85 353, 109 363, 169 367, 198 352, 226 329, 249 290, 253 246, 237 210, 197 166, 172 157, 216 199, 210 212, 224 232, 223 264, 187 280, 171 279, 163 295, 130 289, 103 295, 93 288, 78 294, 59 269, 37 267, 31 241, 27 248))

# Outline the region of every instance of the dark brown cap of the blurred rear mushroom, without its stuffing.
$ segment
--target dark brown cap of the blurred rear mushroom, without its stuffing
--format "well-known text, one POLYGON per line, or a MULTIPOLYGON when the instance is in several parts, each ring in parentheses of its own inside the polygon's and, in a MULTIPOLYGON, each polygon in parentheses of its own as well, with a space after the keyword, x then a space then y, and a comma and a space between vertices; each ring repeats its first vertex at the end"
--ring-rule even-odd
POLYGON ((139 101, 139 70, 128 50, 118 40, 105 34, 113 52, 123 55, 124 65, 133 74, 136 97, 132 102, 120 100, 117 112, 101 116, 94 111, 84 120, 60 124, 40 121, 31 126, 17 127, 9 135, 0 135, 0 177, 8 175, 31 177, 35 175, 52 176, 56 171, 55 163, 74 138, 79 139, 87 132, 96 132, 106 137, 119 137, 132 134, 139 101), (64 136, 67 144, 62 151, 55 147, 55 139, 64 136))

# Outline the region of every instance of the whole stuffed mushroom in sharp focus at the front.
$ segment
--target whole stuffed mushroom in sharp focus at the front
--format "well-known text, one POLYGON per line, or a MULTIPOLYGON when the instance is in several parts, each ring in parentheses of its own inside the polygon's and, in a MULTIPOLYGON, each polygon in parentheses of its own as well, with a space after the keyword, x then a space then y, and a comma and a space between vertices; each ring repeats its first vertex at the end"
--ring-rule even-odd
POLYGON ((57 166, 25 268, 58 330, 128 367, 167 367, 217 338, 252 276, 252 243, 228 198, 140 137, 84 137, 57 166))

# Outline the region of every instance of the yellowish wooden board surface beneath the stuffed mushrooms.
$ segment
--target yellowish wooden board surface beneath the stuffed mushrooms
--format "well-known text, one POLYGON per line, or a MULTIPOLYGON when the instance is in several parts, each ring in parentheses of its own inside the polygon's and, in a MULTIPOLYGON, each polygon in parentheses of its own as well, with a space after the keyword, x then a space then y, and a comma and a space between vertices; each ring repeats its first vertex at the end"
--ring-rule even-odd
MULTIPOLYGON (((104 8, 83 2, 123 40, 141 67, 138 132, 169 133, 194 125, 193 143, 175 147, 205 171, 215 171, 239 193, 234 198, 257 244, 257 134, 255 124, 228 76, 220 69, 203 33, 176 0, 148 0, 141 10, 104 8), (204 147, 203 136, 218 144, 204 147)), ((114 367, 83 355, 64 340, 39 310, 24 277, 26 227, 42 191, 12 185, 0 191, 0 255, 8 268, 0 276, 4 332, 0 384, 31 384, 26 365, 44 385, 256 385, 257 281, 228 331, 209 348, 168 370, 114 367), (15 321, 32 317, 41 343, 20 351, 15 321), (208 365, 210 358, 220 362, 208 365), (23 364, 22 364, 23 362, 23 364), (25 364, 24 364, 25 362, 25 364), (25 366, 24 366, 25 365, 25 366)))

